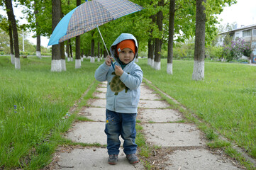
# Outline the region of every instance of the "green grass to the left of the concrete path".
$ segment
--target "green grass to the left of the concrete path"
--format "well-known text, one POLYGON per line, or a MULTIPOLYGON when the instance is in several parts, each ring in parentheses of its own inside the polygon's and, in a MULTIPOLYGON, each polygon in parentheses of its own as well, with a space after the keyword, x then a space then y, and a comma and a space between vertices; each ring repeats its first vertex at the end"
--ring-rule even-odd
POLYGON ((40 169, 49 163, 63 140, 60 134, 75 118, 65 115, 95 84, 99 66, 84 61, 74 69, 74 62, 67 62, 67 72, 50 72, 50 65, 50 57, 21 58, 16 70, 10 57, 0 57, 0 169, 40 169))

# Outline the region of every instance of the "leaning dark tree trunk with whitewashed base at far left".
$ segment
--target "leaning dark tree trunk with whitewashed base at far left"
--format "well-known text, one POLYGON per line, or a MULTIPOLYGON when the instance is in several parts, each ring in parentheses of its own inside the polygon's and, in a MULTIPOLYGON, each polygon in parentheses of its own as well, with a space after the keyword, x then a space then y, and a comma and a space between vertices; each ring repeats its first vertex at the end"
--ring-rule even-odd
POLYGON ((13 30, 14 52, 15 52, 15 59, 14 59, 15 69, 21 69, 20 50, 19 50, 19 47, 18 47, 18 30, 17 30, 15 16, 14 16, 14 13, 13 13, 13 5, 11 4, 11 0, 4 0, 4 4, 6 5, 8 20, 11 21, 11 28, 13 30))

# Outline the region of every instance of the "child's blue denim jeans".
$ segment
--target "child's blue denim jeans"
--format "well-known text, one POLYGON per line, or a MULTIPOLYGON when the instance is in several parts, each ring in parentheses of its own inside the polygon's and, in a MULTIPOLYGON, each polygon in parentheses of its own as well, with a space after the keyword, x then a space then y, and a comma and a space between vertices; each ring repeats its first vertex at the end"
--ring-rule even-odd
POLYGON ((119 136, 123 138, 123 152, 125 154, 135 154, 137 145, 136 137, 136 117, 137 113, 116 113, 106 109, 106 128, 108 154, 119 154, 121 142, 119 136))

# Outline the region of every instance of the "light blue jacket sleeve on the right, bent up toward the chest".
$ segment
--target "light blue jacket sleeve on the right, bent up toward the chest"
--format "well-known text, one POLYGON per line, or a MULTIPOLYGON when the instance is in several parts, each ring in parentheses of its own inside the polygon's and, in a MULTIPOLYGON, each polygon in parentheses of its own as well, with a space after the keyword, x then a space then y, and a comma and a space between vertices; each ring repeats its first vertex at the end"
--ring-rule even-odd
POLYGON ((132 74, 123 72, 120 79, 130 90, 138 89, 143 81, 143 71, 137 67, 132 74))

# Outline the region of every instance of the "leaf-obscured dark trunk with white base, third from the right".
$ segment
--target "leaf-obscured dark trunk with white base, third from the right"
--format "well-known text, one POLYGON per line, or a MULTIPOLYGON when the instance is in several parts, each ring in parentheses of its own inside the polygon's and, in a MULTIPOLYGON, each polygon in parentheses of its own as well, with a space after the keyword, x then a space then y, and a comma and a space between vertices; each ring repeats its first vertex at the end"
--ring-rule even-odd
MULTIPOLYGON (((164 0, 158 1, 158 6, 163 6, 165 3, 164 0)), ((157 26, 160 33, 162 33, 162 11, 157 12, 157 26)), ((161 69, 161 48, 162 48, 162 38, 155 39, 155 60, 154 60, 154 68, 156 70, 161 69)))

